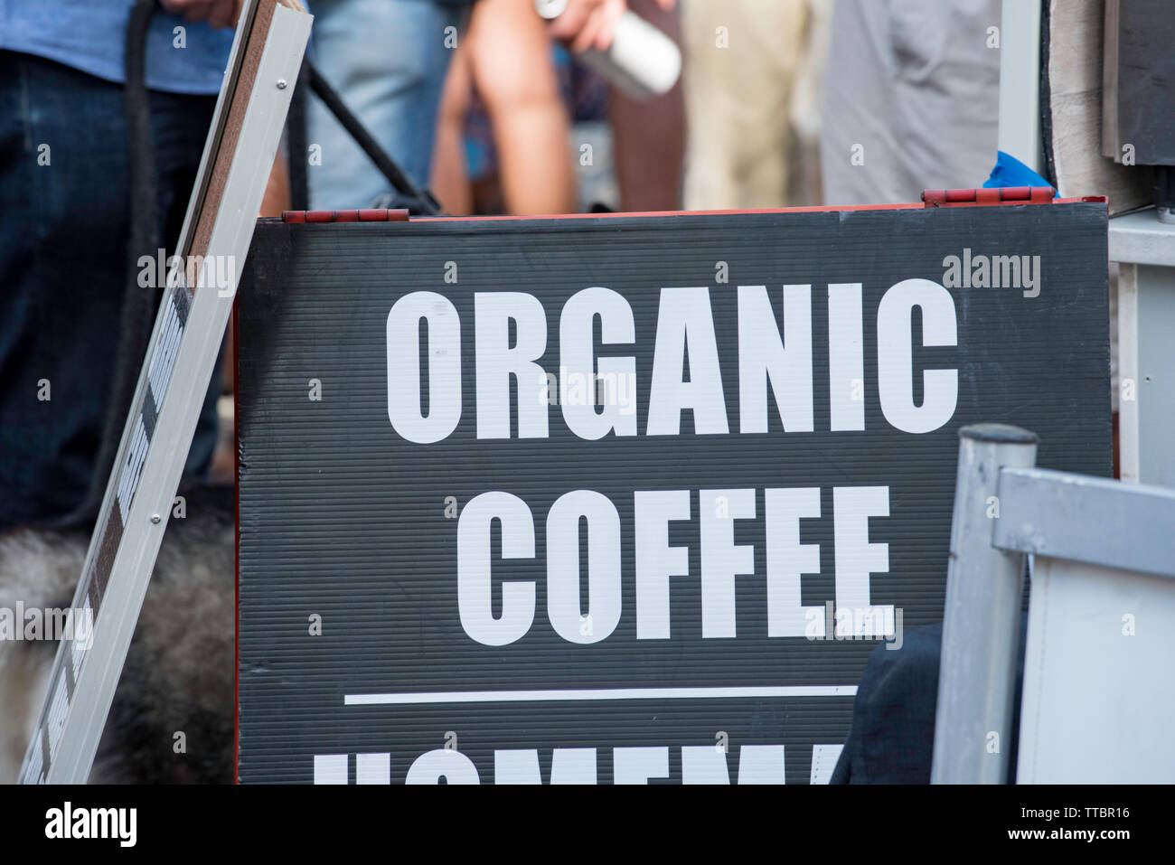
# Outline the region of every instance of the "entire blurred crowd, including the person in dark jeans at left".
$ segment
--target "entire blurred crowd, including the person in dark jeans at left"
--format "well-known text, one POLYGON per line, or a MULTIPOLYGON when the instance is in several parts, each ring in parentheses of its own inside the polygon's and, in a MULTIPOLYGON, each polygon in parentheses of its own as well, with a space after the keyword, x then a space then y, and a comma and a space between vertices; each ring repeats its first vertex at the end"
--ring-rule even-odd
MULTIPOLYGON (((136 262, 175 249, 242 2, 0 0, 0 529, 96 512, 161 296, 136 262)), ((916 202, 995 163, 1000 0, 303 2, 322 79, 452 215, 916 202), (592 62, 626 15, 672 87, 592 62)), ((320 95, 261 215, 428 213, 320 95)), ((233 374, 189 478, 233 480, 233 374)))

